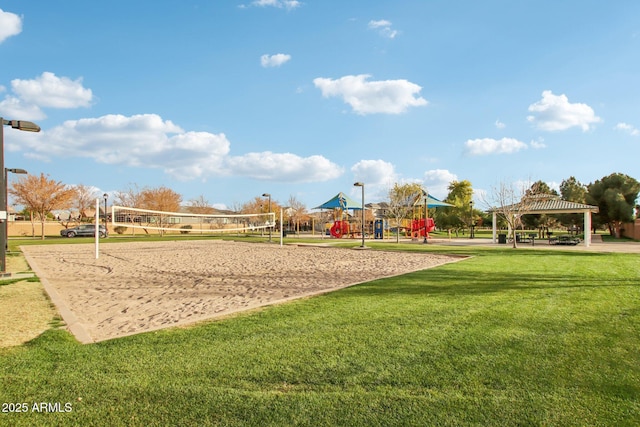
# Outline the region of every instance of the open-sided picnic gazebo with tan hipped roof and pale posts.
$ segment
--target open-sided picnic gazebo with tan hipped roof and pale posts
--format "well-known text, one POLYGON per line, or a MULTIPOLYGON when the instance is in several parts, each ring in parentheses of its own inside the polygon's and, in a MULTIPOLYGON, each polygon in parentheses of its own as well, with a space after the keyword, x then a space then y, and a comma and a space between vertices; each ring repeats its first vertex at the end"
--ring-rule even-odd
POLYGON ((587 247, 591 245, 591 214, 598 213, 597 206, 569 202, 560 199, 559 196, 550 194, 529 196, 520 203, 505 206, 502 209, 491 209, 493 213, 493 243, 496 243, 497 237, 496 222, 498 210, 511 211, 519 215, 582 213, 584 214, 584 245, 587 247))

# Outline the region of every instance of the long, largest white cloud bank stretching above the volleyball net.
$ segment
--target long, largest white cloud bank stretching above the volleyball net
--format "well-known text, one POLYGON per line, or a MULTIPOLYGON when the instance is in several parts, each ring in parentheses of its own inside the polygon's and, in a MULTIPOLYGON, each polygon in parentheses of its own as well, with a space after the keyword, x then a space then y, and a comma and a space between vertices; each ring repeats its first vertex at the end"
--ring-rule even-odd
POLYGON ((39 134, 16 132, 7 142, 7 149, 24 150, 30 157, 44 161, 75 157, 111 165, 158 168, 182 181, 236 175, 317 182, 343 173, 338 165, 319 155, 262 152, 232 157, 231 143, 223 133, 185 132, 155 114, 107 115, 69 120, 39 134))

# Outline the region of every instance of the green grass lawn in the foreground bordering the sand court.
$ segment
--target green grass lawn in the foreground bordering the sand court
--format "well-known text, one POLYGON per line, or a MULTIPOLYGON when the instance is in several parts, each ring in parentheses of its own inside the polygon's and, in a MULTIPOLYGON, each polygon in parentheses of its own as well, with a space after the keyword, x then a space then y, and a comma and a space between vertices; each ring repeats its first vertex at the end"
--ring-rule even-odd
POLYGON ((639 255, 376 247, 473 258, 99 344, 49 330, 0 349, 0 402, 29 406, 0 425, 640 425, 639 255))

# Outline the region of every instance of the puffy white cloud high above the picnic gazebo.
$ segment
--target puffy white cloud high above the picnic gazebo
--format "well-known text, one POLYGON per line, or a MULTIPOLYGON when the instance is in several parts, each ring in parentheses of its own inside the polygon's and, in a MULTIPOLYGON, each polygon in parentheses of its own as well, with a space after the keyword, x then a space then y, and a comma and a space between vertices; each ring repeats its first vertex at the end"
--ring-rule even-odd
POLYGON ((531 104, 529 111, 533 114, 527 120, 545 131, 580 127, 586 132, 592 124, 602 121, 587 104, 572 104, 566 95, 554 95, 550 90, 542 92, 542 99, 531 104))

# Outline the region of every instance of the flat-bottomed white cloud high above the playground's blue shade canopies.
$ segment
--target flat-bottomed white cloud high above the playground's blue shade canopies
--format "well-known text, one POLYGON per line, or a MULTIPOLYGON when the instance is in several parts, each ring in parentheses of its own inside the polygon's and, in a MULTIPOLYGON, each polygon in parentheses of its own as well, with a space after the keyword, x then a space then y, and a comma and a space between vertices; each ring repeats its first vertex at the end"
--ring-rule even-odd
POLYGON ((409 107, 427 105, 419 97, 420 86, 407 80, 367 81, 370 76, 344 76, 337 80, 316 78, 313 83, 325 98, 340 96, 357 114, 400 114, 409 107))

